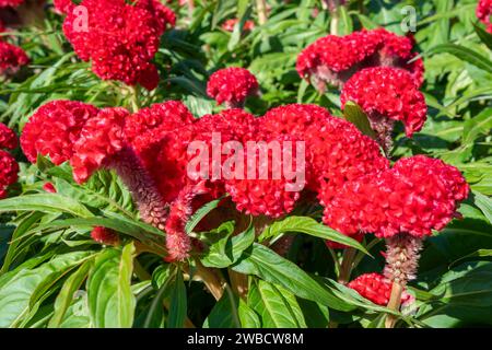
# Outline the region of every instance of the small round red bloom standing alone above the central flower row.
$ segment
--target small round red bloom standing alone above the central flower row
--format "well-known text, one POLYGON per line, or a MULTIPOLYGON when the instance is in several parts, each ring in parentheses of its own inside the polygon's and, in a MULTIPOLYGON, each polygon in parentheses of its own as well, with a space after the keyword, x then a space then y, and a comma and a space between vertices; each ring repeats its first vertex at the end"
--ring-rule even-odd
POLYGON ((207 84, 207 94, 229 108, 242 107, 247 96, 258 92, 258 81, 247 69, 231 67, 214 72, 207 84))

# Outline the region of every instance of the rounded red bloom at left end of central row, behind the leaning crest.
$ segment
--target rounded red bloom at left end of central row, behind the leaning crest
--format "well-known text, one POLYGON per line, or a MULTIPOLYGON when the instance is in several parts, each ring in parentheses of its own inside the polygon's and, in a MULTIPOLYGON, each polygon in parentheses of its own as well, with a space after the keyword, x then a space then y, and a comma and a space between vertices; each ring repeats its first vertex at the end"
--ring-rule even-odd
POLYGON ((59 165, 72 154, 84 124, 96 116, 97 108, 72 101, 52 101, 30 118, 21 135, 21 147, 28 161, 36 162, 40 153, 59 165))

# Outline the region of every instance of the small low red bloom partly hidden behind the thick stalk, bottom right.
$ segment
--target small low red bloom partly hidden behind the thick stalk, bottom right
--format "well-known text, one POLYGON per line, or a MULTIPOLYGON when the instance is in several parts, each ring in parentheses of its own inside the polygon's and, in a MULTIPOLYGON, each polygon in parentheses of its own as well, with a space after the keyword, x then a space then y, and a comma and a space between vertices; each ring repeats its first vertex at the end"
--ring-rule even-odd
MULTIPOLYGON (((364 273, 348 284, 365 299, 372 301, 377 305, 386 306, 391 295, 391 281, 380 273, 364 273)), ((403 306, 414 301, 414 298, 403 292, 401 295, 401 303, 403 306)))

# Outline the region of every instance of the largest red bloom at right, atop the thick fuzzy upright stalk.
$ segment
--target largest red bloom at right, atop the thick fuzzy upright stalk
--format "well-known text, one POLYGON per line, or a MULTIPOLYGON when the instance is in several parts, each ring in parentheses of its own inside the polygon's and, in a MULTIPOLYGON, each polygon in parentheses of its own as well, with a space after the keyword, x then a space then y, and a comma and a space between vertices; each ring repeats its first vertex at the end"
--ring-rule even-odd
POLYGON ((417 155, 391 170, 362 176, 325 197, 324 222, 349 235, 415 237, 442 230, 455 215, 469 187, 459 171, 440 160, 417 155))

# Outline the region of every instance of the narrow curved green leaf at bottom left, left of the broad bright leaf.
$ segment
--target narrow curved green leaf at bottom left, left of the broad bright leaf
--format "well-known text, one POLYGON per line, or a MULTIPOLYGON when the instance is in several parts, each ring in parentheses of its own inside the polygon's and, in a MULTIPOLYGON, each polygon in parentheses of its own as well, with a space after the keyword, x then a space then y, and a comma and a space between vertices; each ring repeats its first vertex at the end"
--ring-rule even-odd
POLYGON ((83 281, 89 275, 89 269, 92 267, 93 260, 86 260, 80 266, 80 268, 72 273, 61 287, 60 292, 55 301, 55 311, 48 327, 58 328, 63 320, 67 310, 70 307, 73 301, 73 294, 80 289, 83 281))

